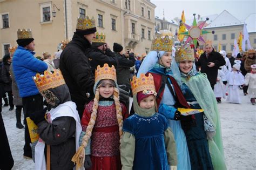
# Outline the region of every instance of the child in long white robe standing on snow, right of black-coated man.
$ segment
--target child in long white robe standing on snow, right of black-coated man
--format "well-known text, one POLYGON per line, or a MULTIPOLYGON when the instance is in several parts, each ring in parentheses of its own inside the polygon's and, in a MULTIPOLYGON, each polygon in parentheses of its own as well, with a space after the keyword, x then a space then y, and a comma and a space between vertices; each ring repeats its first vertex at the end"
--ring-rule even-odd
POLYGON ((241 61, 235 60, 233 65, 233 70, 227 74, 227 84, 228 84, 228 103, 238 103, 241 104, 241 99, 239 96, 239 86, 245 84, 245 77, 240 72, 241 61))

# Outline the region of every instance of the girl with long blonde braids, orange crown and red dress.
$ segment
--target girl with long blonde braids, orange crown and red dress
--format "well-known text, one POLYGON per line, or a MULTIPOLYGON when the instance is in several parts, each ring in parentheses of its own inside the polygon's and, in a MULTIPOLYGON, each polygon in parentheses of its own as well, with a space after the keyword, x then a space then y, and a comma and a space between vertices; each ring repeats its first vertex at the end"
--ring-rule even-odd
POLYGON ((119 102, 116 70, 104 64, 95 71, 95 98, 85 106, 80 148, 72 161, 77 168, 121 169, 120 139, 126 107, 119 102))

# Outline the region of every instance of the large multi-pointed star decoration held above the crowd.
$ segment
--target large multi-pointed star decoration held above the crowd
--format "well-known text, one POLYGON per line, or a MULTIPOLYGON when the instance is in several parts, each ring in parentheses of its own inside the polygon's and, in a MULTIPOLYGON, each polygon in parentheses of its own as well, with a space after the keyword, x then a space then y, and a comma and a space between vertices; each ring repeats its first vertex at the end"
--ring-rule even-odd
MULTIPOLYGON (((206 20, 204 22, 197 25, 196 13, 194 13, 193 16, 194 16, 193 25, 190 26, 190 25, 187 25, 187 24, 183 23, 186 26, 186 29, 188 31, 181 32, 180 35, 188 36, 185 44, 187 44, 188 42, 190 42, 190 40, 193 39, 194 46, 196 47, 197 46, 197 41, 199 40, 200 42, 205 43, 203 35, 206 34, 206 33, 210 33, 210 31, 203 30, 203 26, 205 25, 206 21, 209 20, 209 18, 206 18, 206 20)), ((180 21, 180 22, 182 22, 182 21, 180 21)), ((212 31, 212 33, 214 33, 214 31, 212 31)))

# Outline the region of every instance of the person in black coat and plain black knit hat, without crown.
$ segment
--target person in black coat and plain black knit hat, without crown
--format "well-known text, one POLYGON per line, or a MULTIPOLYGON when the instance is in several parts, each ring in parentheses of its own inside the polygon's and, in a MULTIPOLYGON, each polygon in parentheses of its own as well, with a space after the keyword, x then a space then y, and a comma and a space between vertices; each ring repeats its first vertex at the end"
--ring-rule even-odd
POLYGON ((113 45, 113 51, 117 52, 117 84, 118 85, 126 85, 125 91, 129 92, 131 89, 130 84, 130 67, 134 66, 135 58, 134 53, 130 51, 126 51, 125 55, 123 55, 123 46, 117 43, 113 45))

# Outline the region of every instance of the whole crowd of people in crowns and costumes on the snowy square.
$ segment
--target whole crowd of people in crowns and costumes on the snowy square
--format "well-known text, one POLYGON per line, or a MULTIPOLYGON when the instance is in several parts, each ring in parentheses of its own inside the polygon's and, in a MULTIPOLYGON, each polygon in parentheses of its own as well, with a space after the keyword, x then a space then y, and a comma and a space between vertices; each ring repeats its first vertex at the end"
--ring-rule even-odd
MULTIPOLYGON (((8 93, 10 110, 16 106, 23 155, 35 169, 227 169, 217 102, 241 103, 242 88, 255 104, 253 49, 234 60, 207 40, 195 59, 190 45, 159 35, 148 54, 118 43, 112 51, 85 17, 62 50, 36 58, 32 31, 17 34, 17 49, 3 58, 1 101, 8 93), (32 144, 27 118, 39 135, 32 144)), ((2 115, 0 123, 0 168, 11 169, 2 115)))

